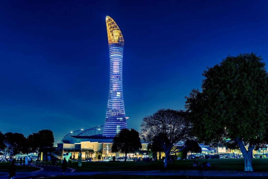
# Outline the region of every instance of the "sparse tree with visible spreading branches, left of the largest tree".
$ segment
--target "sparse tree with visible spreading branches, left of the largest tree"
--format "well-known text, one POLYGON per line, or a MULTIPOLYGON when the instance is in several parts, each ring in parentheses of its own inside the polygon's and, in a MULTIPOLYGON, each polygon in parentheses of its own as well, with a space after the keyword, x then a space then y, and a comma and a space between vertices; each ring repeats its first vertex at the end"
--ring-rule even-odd
POLYGON ((179 149, 174 147, 174 144, 184 143, 192 138, 188 113, 183 110, 160 109, 153 115, 143 118, 141 126, 142 139, 148 143, 157 140, 158 147, 165 152, 164 167, 168 165, 168 156, 179 149))

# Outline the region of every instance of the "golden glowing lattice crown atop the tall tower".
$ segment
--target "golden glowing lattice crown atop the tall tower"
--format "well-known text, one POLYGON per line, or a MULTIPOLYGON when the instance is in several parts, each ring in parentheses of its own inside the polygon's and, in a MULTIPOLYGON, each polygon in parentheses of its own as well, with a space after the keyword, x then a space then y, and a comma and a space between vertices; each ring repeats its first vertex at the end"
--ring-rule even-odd
POLYGON ((112 43, 120 43, 121 45, 124 45, 124 38, 118 25, 109 16, 106 16, 106 27, 109 45, 112 43))

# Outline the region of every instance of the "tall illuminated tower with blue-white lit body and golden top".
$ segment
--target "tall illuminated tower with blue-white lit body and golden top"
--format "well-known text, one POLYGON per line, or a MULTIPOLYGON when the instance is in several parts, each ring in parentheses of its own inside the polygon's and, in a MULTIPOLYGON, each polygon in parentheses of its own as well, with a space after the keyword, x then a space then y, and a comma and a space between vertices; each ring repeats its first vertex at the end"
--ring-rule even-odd
POLYGON ((106 16, 106 27, 110 57, 110 87, 102 135, 114 137, 121 129, 127 128, 122 82, 124 39, 119 27, 109 16, 106 16))

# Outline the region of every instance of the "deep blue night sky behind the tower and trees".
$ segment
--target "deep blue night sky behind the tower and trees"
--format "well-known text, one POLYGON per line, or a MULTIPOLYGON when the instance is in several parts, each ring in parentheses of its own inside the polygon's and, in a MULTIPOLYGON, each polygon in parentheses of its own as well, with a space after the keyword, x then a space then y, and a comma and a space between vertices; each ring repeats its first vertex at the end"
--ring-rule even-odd
POLYGON ((268 63, 267 1, 1 1, 0 131, 51 129, 55 143, 103 125, 109 92, 105 16, 124 36, 128 127, 184 109, 202 72, 228 55, 268 63))

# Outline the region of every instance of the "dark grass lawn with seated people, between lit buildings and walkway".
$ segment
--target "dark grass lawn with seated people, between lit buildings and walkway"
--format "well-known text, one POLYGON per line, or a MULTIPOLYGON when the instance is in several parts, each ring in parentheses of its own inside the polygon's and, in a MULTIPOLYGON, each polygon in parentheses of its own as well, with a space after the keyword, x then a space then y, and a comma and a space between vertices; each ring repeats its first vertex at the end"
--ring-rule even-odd
MULTIPOLYGON (((210 168, 192 167, 193 160, 176 160, 163 167, 163 162, 82 162, 78 167, 77 162, 68 163, 68 167, 76 171, 143 171, 143 170, 240 170, 244 171, 243 159, 199 159, 200 164, 208 161, 210 168)), ((50 165, 50 162, 41 164, 50 165)), ((199 165, 200 165, 199 164, 199 165)), ((61 163, 57 163, 61 165, 61 163)), ((252 159, 254 171, 268 171, 268 159, 252 159)))

